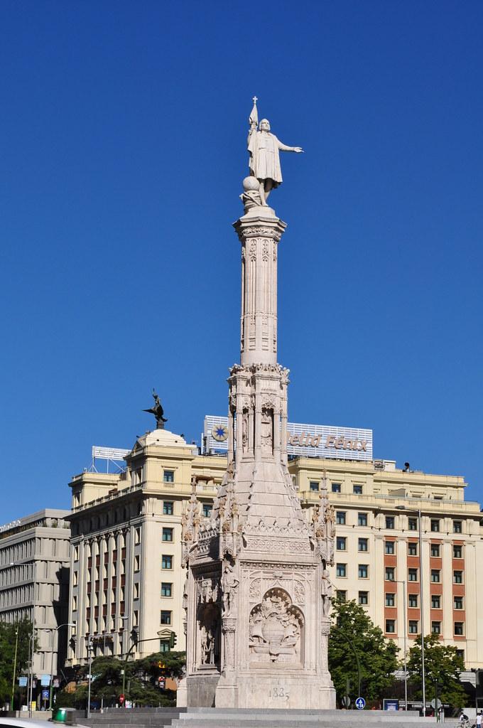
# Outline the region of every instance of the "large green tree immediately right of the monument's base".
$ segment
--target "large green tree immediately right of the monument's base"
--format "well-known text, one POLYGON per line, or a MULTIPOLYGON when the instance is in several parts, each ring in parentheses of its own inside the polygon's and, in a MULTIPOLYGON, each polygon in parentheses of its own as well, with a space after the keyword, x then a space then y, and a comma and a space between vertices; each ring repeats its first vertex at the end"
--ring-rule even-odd
POLYGON ((366 700, 378 700, 394 681, 399 667, 395 642, 386 639, 367 612, 353 601, 332 600, 332 627, 329 638, 329 669, 338 700, 346 695, 346 681, 351 697, 357 692, 357 662, 361 666, 361 692, 366 700), (349 644, 349 642, 351 644, 349 644), (351 645, 353 649, 351 649, 351 645))

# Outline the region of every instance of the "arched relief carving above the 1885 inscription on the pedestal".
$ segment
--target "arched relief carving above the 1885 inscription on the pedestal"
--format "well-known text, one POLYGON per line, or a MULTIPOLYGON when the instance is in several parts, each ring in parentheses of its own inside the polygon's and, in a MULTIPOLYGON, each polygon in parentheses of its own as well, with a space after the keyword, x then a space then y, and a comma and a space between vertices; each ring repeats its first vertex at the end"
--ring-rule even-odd
POLYGON ((283 589, 270 589, 250 612, 250 658, 255 662, 301 662, 304 619, 283 589))

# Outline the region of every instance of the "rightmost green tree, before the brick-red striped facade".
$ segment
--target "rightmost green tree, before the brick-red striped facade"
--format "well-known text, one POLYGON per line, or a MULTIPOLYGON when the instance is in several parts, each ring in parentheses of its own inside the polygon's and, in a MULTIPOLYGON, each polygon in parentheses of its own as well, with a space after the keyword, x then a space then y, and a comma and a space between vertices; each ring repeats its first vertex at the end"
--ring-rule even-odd
MULTIPOLYGON (((438 635, 424 638, 424 674, 426 677, 426 700, 436 697, 436 690, 442 703, 455 708, 466 704, 466 692, 460 683, 460 673, 465 669, 463 658, 458 656, 456 647, 444 646, 438 635)), ((407 671, 410 681, 417 685, 416 697, 423 697, 421 681, 421 637, 415 640, 407 658, 407 671)))

